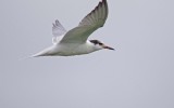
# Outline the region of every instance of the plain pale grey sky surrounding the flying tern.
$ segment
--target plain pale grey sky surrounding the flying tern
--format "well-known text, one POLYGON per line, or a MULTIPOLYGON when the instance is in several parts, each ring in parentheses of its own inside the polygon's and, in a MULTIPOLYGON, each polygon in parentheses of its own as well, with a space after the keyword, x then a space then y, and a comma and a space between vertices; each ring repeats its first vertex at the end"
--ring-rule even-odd
POLYGON ((174 108, 174 0, 108 0, 90 39, 115 51, 22 59, 99 0, 0 1, 0 108, 174 108))

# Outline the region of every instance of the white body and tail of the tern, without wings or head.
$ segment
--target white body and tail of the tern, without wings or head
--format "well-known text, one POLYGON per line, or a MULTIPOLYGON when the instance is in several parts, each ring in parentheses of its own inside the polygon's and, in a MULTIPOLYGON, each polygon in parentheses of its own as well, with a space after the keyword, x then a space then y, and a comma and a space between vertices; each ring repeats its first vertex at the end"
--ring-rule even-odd
POLYGON ((78 43, 58 43, 52 46, 33 55, 37 56, 72 56, 72 55, 82 55, 88 54, 91 52, 98 51, 94 48, 89 41, 84 44, 78 43))

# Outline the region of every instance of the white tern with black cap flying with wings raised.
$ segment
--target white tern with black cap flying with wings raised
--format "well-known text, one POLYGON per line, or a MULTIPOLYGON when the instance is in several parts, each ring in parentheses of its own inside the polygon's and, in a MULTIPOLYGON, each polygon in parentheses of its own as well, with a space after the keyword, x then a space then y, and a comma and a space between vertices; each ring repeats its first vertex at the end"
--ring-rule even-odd
POLYGON ((33 57, 72 56, 89 54, 103 49, 114 50, 99 40, 88 40, 88 37, 95 30, 103 27, 107 17, 108 3, 107 0, 102 0, 89 14, 82 19, 77 27, 69 31, 57 19, 52 26, 53 45, 33 55, 33 57))

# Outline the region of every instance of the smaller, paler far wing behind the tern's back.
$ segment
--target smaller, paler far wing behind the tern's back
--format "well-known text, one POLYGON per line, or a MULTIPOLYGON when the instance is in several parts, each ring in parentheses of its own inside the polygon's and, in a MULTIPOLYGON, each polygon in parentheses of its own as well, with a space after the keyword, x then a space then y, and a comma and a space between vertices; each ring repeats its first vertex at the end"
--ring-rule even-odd
POLYGON ((52 43, 55 44, 60 40, 60 36, 65 35, 67 31, 61 25, 61 23, 57 19, 55 23, 52 24, 52 43))

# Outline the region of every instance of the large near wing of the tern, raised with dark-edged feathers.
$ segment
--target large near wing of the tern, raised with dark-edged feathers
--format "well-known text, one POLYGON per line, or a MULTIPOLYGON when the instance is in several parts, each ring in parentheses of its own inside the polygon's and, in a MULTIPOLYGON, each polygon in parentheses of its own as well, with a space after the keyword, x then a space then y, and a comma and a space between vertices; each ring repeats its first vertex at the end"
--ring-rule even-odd
POLYGON ((108 17, 108 3, 102 0, 87 16, 85 16, 79 25, 67 31, 60 42, 84 43, 88 37, 98 28, 102 27, 108 17))

